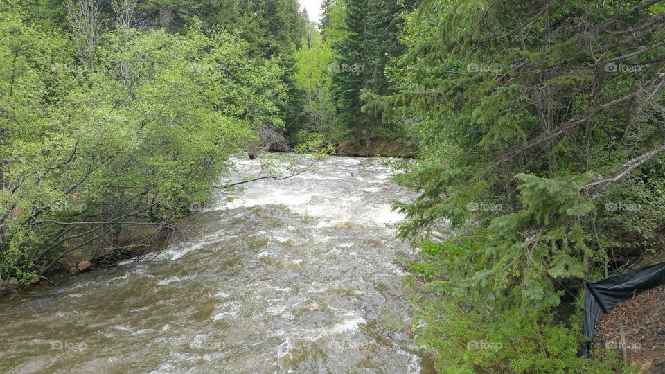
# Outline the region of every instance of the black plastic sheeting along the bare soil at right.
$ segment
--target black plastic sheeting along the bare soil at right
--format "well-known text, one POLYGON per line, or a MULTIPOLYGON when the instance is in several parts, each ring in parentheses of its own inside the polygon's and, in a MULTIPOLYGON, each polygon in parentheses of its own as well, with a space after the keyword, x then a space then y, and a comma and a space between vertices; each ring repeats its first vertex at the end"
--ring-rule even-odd
POLYGON ((628 271, 619 276, 607 278, 584 286, 584 323, 583 332, 589 342, 580 350, 583 356, 591 353, 594 342, 594 330, 617 303, 631 299, 642 291, 650 290, 665 283, 665 262, 628 271))

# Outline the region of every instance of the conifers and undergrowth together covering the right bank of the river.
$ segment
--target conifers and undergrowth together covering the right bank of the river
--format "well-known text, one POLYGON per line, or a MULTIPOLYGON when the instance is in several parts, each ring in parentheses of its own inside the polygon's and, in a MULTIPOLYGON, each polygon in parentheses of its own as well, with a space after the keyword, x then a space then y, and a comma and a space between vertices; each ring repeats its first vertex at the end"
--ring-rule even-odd
POLYGON ((399 92, 364 94, 367 113, 413 118, 420 139, 416 167, 398 178, 419 193, 396 204, 400 234, 452 229, 425 241, 414 267, 446 301, 425 308, 440 368, 616 368, 574 359, 580 326, 547 317, 608 263, 663 248, 665 33, 643 27, 659 24, 662 6, 603 4, 423 1, 405 15, 407 50, 391 70, 399 92), (509 348, 454 349, 469 339, 509 348))

